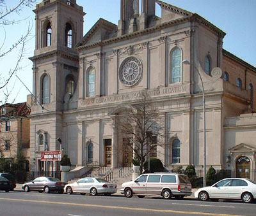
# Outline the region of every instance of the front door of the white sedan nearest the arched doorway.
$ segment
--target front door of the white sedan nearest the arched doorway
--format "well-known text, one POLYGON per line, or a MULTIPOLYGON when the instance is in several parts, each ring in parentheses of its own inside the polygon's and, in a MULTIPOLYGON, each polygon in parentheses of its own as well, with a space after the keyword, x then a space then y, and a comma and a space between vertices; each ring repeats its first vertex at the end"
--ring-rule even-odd
POLYGON ((228 199, 228 189, 230 187, 231 179, 224 179, 215 185, 212 185, 209 196, 216 199, 228 199))

